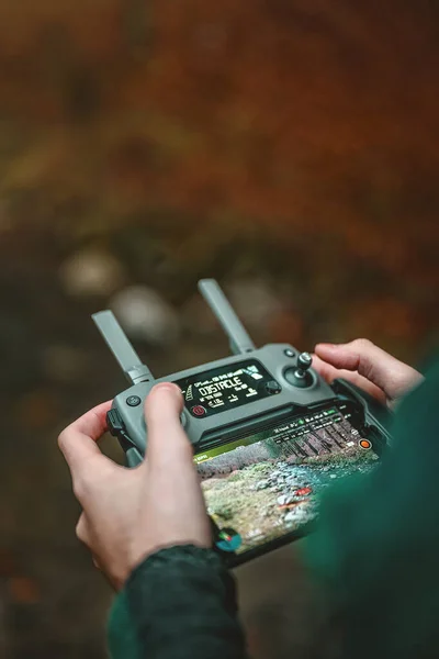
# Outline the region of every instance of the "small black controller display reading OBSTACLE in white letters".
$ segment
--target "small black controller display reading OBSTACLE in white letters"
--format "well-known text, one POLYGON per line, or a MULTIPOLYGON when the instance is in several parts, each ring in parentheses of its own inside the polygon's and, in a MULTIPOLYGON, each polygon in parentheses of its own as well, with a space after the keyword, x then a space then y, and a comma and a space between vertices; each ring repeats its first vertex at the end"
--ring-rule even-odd
POLYGON ((192 416, 203 417, 278 393, 281 388, 256 359, 177 380, 192 416))

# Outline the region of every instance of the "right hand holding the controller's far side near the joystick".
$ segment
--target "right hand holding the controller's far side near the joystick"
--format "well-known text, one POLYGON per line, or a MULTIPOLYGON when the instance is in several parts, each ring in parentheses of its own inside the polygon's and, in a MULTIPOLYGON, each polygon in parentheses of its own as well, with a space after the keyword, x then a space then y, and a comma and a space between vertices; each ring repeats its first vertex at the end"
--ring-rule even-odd
POLYGON ((313 367, 331 382, 344 378, 393 406, 423 376, 365 338, 348 344, 317 344, 313 367))

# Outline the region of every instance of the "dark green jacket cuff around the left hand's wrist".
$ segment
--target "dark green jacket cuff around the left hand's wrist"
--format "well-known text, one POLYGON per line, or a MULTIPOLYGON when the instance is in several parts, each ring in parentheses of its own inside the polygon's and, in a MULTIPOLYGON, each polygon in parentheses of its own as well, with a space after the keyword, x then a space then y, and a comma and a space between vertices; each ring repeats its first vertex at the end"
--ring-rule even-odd
POLYGON ((112 659, 244 659, 233 577, 212 550, 158 551, 116 597, 109 644, 112 659))

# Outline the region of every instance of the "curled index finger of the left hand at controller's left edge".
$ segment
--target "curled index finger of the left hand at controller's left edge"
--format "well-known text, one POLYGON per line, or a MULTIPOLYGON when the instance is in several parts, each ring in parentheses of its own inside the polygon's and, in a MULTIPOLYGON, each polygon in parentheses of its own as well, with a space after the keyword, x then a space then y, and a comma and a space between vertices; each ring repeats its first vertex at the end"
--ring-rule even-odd
POLYGON ((111 401, 101 403, 74 421, 58 437, 58 446, 74 471, 85 460, 102 455, 97 442, 106 432, 106 413, 111 401))

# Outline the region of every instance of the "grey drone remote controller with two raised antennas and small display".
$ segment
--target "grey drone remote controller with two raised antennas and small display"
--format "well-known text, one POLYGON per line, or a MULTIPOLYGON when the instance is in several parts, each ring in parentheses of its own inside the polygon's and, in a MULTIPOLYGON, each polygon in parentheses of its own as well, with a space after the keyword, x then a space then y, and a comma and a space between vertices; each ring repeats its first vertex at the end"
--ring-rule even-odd
MULTIPOLYGON (((328 384, 312 368, 311 355, 289 344, 257 348, 217 282, 201 280, 199 289, 227 334, 233 355, 162 378, 155 379, 142 364, 111 311, 93 315, 131 383, 115 396, 108 413, 109 429, 125 451, 128 467, 145 456, 144 401, 164 381, 175 382, 182 391, 181 423, 198 456, 213 455, 218 447, 235 446, 240 438, 270 428, 278 434, 279 428, 288 428, 290 439, 302 437, 306 427, 317 433, 336 409, 348 411, 357 428, 352 432, 373 443, 376 453, 390 443, 390 413, 375 399, 342 379, 328 384), (296 424, 291 420, 297 420, 296 424)), ((316 449, 311 445, 313 456, 311 449, 316 449)), ((297 444, 299 450, 306 451, 305 445, 300 449, 297 444)))

